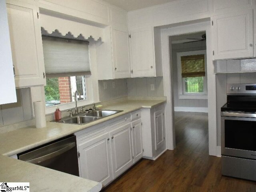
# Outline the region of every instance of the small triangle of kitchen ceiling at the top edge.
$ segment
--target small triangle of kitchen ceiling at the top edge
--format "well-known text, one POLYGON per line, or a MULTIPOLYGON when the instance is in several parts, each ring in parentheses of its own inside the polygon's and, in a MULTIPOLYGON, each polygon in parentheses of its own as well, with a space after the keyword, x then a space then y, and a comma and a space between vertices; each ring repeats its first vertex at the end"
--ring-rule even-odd
POLYGON ((164 4, 175 0, 103 0, 126 11, 132 11, 154 5, 164 4))

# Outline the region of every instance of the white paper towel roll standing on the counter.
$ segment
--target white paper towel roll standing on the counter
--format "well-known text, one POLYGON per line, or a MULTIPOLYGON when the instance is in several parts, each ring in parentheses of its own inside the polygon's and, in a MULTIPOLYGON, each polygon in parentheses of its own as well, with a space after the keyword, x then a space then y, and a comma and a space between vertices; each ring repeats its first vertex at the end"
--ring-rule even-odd
POLYGON ((45 104, 42 101, 33 102, 34 105, 34 113, 36 120, 36 128, 42 128, 46 126, 46 118, 45 118, 45 104))

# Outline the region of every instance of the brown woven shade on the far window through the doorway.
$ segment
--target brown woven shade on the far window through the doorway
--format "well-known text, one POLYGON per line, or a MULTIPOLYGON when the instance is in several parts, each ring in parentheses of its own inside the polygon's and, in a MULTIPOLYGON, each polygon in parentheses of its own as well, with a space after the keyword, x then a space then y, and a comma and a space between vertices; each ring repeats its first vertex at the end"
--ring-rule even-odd
POLYGON ((204 54, 181 56, 182 77, 204 77, 204 54))

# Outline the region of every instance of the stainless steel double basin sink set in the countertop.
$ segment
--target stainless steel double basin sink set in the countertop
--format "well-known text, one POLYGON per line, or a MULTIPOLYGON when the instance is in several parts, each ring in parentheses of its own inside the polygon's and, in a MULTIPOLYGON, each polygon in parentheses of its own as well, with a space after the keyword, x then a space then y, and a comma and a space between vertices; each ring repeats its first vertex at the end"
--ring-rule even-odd
POLYGON ((92 121, 96 121, 98 119, 119 113, 122 111, 119 110, 94 110, 89 113, 78 114, 73 117, 64 118, 64 120, 60 120, 60 123, 68 123, 68 124, 86 124, 92 121))

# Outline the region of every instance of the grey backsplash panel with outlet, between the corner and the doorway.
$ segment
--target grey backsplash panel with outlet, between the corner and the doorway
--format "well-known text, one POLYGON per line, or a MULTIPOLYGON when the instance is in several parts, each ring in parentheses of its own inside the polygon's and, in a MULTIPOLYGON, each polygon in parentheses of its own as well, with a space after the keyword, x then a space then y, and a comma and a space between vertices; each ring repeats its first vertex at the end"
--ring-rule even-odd
POLYGON ((127 79, 128 96, 164 96, 163 77, 144 77, 127 79), (151 85, 154 84, 154 90, 151 85))

